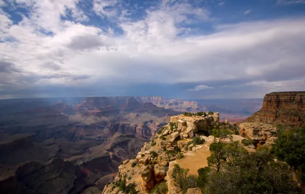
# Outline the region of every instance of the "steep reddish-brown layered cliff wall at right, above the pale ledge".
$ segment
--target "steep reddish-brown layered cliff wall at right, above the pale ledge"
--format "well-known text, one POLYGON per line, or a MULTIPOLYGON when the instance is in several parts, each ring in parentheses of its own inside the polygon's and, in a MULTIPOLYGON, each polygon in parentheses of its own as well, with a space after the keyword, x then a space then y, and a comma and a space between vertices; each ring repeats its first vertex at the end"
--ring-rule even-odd
POLYGON ((268 93, 264 97, 262 109, 245 122, 300 127, 305 124, 305 92, 268 93))

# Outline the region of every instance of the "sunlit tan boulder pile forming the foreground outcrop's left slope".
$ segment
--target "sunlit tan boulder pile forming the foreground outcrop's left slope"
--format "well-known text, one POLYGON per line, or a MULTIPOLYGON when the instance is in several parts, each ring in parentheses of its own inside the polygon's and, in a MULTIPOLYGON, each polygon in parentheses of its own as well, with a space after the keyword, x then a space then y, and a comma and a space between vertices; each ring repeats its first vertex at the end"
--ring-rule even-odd
POLYGON ((190 143, 192 137, 198 136, 202 142, 212 142, 214 136, 204 134, 218 125, 219 113, 170 117, 170 123, 144 144, 135 159, 126 160, 119 166, 115 182, 106 185, 102 193, 123 193, 119 186, 122 181, 125 181, 126 187, 133 185, 138 193, 148 193, 155 184, 164 182, 170 161, 182 158, 183 153, 202 149, 202 145, 190 143))

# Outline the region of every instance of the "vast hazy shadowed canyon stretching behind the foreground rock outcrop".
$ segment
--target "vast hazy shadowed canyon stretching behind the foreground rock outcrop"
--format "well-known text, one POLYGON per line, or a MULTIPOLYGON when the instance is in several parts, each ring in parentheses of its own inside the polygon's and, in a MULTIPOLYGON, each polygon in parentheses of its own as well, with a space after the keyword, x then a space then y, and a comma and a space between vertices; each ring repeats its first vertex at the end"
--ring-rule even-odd
MULTIPOLYGON (((256 101, 247 102, 250 106, 245 109, 256 109, 256 101)), ((171 116, 221 106, 219 101, 206 103, 201 106, 158 96, 2 100, 0 190, 81 193, 89 187, 100 192, 114 180, 121 162, 136 156, 171 116)), ((220 110, 234 115, 237 109, 226 106, 220 110)), ((245 114, 238 111, 237 118, 243 119, 245 114)), ((219 122, 219 115, 216 117, 219 122)), ((212 119, 198 121, 197 128, 189 126, 191 120, 186 118, 179 130, 188 128, 184 136, 190 137, 210 126, 212 119)))

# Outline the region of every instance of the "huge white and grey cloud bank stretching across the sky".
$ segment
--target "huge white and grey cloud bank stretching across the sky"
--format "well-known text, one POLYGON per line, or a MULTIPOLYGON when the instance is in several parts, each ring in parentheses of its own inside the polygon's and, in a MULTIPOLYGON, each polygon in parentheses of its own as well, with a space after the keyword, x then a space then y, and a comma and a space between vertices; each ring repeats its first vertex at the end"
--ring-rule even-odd
MULTIPOLYGON (((115 35, 112 27, 100 29, 80 23, 88 16, 77 7, 78 0, 17 2, 31 7, 32 12, 13 25, 9 15, 0 10, 0 61, 22 69, 18 75, 6 77, 20 88, 280 82, 302 77, 304 18, 216 25, 212 34, 192 35, 194 29, 187 34, 183 24, 210 21, 204 8, 194 9, 184 1, 163 1, 146 10, 145 17, 128 19, 128 15, 121 15, 117 1, 95 0, 94 11, 115 20, 116 28, 123 31, 115 35), (74 21, 62 19, 68 11, 74 21)), ((208 88, 199 85, 191 91, 208 88)))

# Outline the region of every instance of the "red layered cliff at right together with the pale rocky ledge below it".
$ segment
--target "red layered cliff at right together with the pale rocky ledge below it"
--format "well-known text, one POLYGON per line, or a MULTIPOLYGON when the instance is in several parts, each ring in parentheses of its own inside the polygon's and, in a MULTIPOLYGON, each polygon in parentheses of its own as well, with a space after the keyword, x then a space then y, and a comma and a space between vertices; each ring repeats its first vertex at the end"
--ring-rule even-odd
POLYGON ((261 146, 275 139, 277 124, 290 127, 305 124, 305 92, 266 94, 262 109, 239 124, 239 134, 261 146))

